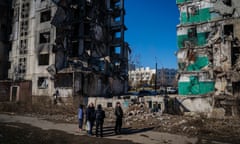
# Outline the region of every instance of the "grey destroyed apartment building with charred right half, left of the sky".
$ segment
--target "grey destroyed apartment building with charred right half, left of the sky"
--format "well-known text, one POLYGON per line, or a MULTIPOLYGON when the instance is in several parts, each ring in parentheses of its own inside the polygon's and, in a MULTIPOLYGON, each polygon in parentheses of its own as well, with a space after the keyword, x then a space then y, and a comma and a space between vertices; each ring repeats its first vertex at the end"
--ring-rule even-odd
POLYGON ((124 0, 13 0, 12 9, 12 101, 78 103, 126 92, 124 0))

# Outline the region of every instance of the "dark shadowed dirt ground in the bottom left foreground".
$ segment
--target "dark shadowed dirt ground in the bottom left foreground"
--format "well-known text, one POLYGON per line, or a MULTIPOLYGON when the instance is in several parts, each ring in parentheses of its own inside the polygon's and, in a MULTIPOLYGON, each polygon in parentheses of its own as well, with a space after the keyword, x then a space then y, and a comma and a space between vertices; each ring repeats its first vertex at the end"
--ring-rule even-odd
POLYGON ((42 130, 26 124, 0 123, 0 144, 134 144, 113 140, 67 134, 57 130, 42 130))

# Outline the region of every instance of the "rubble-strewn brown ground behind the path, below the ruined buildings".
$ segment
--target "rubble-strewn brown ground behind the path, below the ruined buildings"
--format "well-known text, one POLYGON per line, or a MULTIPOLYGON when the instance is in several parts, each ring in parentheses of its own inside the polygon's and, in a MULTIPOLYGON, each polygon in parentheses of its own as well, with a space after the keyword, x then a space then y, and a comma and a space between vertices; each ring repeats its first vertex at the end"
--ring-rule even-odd
MULTIPOLYGON (((1 104, 0 110, 18 112, 19 114, 41 117, 54 122, 77 123, 77 110, 62 106, 32 106, 28 110, 18 104, 1 104)), ((105 125, 114 122, 113 109, 105 109, 105 125)), ((238 143, 240 141, 240 119, 225 117, 209 119, 203 114, 185 113, 184 115, 151 113, 144 105, 133 105, 125 111, 124 127, 133 129, 152 128, 154 131, 214 139, 222 142, 238 143)))

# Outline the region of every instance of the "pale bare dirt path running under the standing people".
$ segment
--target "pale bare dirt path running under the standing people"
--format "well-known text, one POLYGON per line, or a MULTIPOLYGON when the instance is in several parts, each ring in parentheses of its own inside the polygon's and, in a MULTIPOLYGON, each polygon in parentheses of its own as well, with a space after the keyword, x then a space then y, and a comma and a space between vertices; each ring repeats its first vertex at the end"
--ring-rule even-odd
MULTIPOLYGON (((86 136, 86 132, 77 132, 77 124, 69 123, 54 123, 36 117, 27 117, 11 114, 0 114, 1 123, 22 123, 29 124, 33 127, 38 127, 43 130, 59 130, 73 135, 86 136)), ((88 137, 88 136, 86 136, 88 137)), ((124 128, 123 134, 114 135, 113 127, 104 127, 104 138, 113 140, 128 140, 140 144, 207 144, 209 141, 199 139, 196 137, 186 137, 181 135, 154 132, 151 129, 135 130, 131 128, 124 128)), ((214 142, 224 144, 221 142, 214 142)))

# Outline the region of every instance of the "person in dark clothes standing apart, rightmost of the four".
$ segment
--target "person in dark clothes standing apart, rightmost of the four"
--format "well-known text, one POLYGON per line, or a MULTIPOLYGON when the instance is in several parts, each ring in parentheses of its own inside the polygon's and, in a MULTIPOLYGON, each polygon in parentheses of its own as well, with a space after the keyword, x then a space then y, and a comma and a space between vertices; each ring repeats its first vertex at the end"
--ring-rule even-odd
POLYGON ((123 110, 120 102, 117 102, 114 113, 116 116, 115 134, 120 134, 122 129, 122 118, 123 118, 123 110))

